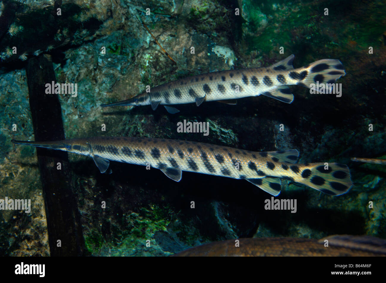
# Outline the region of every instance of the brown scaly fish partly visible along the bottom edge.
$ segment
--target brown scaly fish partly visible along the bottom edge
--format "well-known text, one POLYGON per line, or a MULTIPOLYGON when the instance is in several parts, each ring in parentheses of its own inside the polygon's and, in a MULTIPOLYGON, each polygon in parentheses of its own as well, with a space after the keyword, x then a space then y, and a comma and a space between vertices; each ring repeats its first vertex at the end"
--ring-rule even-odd
POLYGON ((305 238, 244 238, 192 247, 172 256, 386 256, 386 240, 371 236, 334 235, 305 238), (328 240, 328 247, 325 247, 328 240))

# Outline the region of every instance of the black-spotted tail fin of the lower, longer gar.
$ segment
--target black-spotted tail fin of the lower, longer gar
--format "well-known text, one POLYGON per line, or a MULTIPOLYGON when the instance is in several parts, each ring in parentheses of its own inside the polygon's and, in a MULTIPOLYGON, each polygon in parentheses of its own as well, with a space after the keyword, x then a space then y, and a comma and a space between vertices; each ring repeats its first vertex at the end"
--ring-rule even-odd
POLYGON ((339 163, 311 163, 301 166, 301 173, 296 182, 327 193, 343 195, 352 186, 347 165, 339 163))

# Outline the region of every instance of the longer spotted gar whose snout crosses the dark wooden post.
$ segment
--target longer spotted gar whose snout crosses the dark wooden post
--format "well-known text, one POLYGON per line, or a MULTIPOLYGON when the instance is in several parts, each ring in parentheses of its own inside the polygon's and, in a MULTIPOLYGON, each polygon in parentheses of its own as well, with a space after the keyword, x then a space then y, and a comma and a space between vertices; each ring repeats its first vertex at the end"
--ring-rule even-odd
POLYGON ((294 164, 296 149, 253 152, 232 147, 173 139, 88 137, 56 142, 15 141, 14 144, 58 149, 91 156, 101 173, 110 161, 150 165, 174 181, 182 171, 245 179, 271 195, 279 195, 280 178, 323 193, 342 195, 352 185, 349 168, 339 163, 294 164))

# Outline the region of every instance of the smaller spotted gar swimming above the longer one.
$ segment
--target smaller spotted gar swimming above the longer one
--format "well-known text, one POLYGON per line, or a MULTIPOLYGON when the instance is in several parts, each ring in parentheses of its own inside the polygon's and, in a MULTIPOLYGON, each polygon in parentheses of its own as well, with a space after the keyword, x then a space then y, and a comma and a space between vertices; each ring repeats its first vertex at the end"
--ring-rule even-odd
POLYGON ((220 101, 235 104, 236 98, 265 95, 291 103, 293 94, 288 85, 301 85, 311 88, 317 81, 334 87, 335 80, 345 75, 342 63, 336 59, 322 59, 302 68, 294 69, 292 54, 270 67, 247 68, 212 72, 164 83, 149 92, 143 92, 124 101, 102 104, 102 107, 115 105, 151 105, 156 110, 164 105, 169 113, 177 113, 173 104, 204 101, 220 101))

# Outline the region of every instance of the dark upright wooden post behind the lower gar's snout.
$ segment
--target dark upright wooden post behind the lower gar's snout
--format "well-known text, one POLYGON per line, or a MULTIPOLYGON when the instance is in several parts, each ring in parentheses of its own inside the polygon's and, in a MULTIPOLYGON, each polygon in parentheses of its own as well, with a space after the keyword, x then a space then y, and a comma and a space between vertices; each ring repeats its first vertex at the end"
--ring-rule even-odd
MULTIPOLYGON (((63 140, 58 95, 45 92, 46 83, 55 81, 52 62, 41 55, 29 59, 26 69, 35 140, 63 140)), ((51 256, 81 256, 85 251, 85 241, 76 199, 71 190, 68 155, 64 151, 37 148, 37 159, 46 206, 51 256), (58 163, 61 163, 61 170, 57 169, 58 163)))

